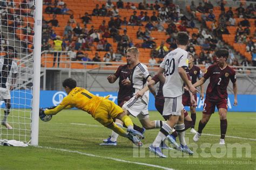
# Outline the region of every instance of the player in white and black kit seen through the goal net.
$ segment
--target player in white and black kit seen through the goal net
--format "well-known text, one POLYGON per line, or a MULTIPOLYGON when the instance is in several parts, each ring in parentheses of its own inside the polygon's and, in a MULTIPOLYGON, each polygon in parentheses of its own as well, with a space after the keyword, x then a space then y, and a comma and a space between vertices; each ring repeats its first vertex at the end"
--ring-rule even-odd
POLYGON ((11 108, 10 90, 14 89, 18 69, 17 63, 13 60, 15 55, 14 47, 6 46, 4 51, 6 54, 0 56, 0 100, 4 100, 5 103, 4 118, 1 124, 7 129, 12 129, 7 123, 7 117, 10 114, 11 108))

